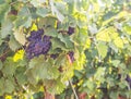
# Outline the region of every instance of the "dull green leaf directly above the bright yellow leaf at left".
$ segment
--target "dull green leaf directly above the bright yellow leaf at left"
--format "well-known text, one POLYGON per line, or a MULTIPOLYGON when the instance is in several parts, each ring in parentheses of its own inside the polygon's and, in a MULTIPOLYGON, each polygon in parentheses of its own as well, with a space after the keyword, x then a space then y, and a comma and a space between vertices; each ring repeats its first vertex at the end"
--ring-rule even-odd
POLYGON ((9 41, 9 47, 11 48, 11 50, 15 51, 21 47, 21 45, 15 40, 14 36, 11 36, 9 41))

